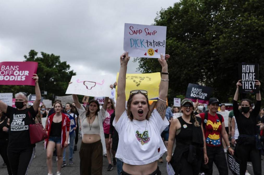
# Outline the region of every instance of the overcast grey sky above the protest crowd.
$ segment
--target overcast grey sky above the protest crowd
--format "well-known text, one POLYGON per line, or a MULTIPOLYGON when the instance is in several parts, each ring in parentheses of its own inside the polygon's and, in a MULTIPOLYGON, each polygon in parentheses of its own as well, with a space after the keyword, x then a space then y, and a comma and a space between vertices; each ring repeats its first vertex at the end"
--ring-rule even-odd
MULTIPOLYGON (((0 2, 0 61, 31 49, 60 55, 77 75, 119 71, 124 23, 151 25, 172 0, 24 0, 0 2)), ((39 54, 40 56, 40 54, 39 54)), ((127 73, 137 73, 130 58, 127 73)))

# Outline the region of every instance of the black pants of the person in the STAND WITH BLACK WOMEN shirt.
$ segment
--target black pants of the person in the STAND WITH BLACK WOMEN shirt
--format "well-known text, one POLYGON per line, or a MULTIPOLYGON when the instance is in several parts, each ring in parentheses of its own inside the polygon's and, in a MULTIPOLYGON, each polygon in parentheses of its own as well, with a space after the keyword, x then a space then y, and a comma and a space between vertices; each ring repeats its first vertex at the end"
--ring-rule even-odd
POLYGON ((35 147, 25 150, 7 150, 13 175, 25 175, 35 154, 35 147))

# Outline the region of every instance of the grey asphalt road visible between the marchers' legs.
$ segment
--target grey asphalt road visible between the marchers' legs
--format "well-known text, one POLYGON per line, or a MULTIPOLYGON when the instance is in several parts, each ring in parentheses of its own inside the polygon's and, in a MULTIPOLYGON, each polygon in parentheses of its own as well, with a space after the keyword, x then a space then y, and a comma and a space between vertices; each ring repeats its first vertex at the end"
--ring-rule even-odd
MULTIPOLYGON (((77 147, 77 151, 74 152, 73 156, 73 165, 67 165, 66 167, 63 167, 61 170, 62 175, 64 174, 71 174, 71 175, 75 175, 75 174, 79 174, 79 148, 81 145, 81 138, 79 138, 79 142, 78 142, 78 147, 77 147)), ((67 148, 66 150, 66 163, 68 164, 68 154, 69 152, 69 148, 67 148)), ((165 162, 166 158, 166 154, 163 155, 163 160, 165 162)), ((262 159, 264 159, 264 157, 262 156, 262 159)), ((7 169, 6 166, 3 166, 3 160, 2 158, 0 158, 0 174, 4 175, 7 174, 7 169)), ((108 166, 108 162, 107 162, 107 158, 104 157, 103 158, 103 175, 117 175, 117 169, 116 166, 113 167, 112 171, 106 171, 106 168, 108 166)), ((158 166, 162 172, 162 174, 167 174, 166 171, 166 163, 158 163, 158 166)), ((53 174, 55 175, 56 173, 56 168, 57 168, 57 164, 55 161, 55 157, 53 157, 53 174)), ((214 172, 213 174, 219 174, 218 170, 216 168, 216 166, 214 165, 214 172)), ((253 173, 253 168, 250 162, 248 162, 248 166, 247 166, 248 172, 250 174, 254 174, 253 173)), ((42 175, 42 174, 48 174, 48 169, 47 169, 47 165, 46 165, 46 151, 44 150, 44 146, 42 143, 37 143, 37 147, 36 147, 36 158, 33 159, 31 166, 29 168, 29 175, 33 174, 33 175, 42 175)), ((229 174, 232 174, 229 171, 229 174)), ((264 174, 264 163, 262 161, 262 174, 264 174)))

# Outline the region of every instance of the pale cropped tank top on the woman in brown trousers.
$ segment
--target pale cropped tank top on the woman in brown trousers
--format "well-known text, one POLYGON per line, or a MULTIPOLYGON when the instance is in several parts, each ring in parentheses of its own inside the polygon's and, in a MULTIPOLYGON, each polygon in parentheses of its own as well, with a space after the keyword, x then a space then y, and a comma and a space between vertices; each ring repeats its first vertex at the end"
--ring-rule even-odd
POLYGON ((88 123, 87 118, 84 118, 82 122, 82 132, 83 134, 99 134, 100 135, 100 125, 98 116, 95 116, 95 119, 92 123, 88 123), (90 128, 91 127, 91 128, 90 128))

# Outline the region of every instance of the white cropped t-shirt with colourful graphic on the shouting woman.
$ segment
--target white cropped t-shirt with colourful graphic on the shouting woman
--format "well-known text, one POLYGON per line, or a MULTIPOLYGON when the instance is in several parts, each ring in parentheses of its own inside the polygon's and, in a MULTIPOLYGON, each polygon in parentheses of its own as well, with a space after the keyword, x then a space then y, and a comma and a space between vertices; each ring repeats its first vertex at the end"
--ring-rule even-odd
POLYGON ((117 123, 115 119, 113 121, 119 135, 116 158, 130 165, 144 165, 158 160, 167 151, 161 133, 168 125, 167 118, 162 120, 155 109, 149 120, 143 121, 131 121, 124 111, 117 123))

